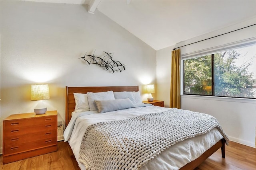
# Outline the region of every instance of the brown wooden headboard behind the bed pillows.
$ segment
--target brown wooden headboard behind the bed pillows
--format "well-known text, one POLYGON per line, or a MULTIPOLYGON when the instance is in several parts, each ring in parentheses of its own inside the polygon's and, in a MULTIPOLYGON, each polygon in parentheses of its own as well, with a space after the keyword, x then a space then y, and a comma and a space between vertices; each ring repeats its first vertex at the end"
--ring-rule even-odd
POLYGON ((87 92, 138 92, 139 86, 106 86, 106 87, 67 87, 66 86, 66 126, 71 119, 71 113, 75 110, 75 98, 73 93, 87 92))

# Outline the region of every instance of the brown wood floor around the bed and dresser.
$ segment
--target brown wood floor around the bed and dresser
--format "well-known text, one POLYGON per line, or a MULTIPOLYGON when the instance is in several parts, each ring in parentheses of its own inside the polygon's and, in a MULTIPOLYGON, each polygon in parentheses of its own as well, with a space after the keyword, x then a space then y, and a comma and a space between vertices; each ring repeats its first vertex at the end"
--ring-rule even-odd
MULTIPOLYGON (((68 143, 58 142, 58 151, 9 164, 2 161, 1 170, 80 170, 68 143)), ((230 142, 226 158, 219 149, 195 170, 256 170, 256 149, 230 142)))

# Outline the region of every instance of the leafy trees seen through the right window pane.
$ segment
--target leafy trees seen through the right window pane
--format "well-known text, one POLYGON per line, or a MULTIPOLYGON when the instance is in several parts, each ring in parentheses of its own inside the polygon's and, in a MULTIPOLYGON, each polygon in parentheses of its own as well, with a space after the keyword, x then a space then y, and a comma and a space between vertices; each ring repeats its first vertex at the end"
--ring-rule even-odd
POLYGON ((214 55, 215 96, 255 97, 254 89, 247 88, 256 83, 252 72, 248 71, 252 61, 238 67, 235 60, 240 55, 236 50, 214 55))

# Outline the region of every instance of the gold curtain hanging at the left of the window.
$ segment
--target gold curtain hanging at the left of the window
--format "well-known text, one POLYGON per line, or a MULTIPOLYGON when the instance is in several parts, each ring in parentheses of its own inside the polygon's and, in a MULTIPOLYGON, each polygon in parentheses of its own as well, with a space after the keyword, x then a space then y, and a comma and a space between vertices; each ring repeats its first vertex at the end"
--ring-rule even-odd
POLYGON ((180 109, 180 49, 172 51, 170 107, 180 109))

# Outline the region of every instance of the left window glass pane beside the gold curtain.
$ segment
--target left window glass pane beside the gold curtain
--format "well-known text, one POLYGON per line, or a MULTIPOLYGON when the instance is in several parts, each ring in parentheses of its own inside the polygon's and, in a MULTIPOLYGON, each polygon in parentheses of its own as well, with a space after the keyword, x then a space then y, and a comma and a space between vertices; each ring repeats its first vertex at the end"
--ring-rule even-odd
POLYGON ((212 95, 212 57, 184 60, 184 94, 212 95))

